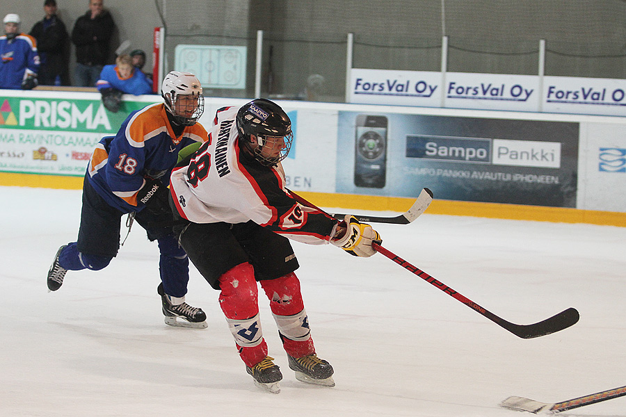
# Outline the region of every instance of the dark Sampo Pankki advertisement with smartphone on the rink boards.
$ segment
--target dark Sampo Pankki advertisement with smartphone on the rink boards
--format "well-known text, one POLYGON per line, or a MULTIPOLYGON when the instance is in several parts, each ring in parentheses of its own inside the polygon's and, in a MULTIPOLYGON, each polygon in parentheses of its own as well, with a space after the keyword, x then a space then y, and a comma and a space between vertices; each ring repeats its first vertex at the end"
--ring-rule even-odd
POLYGON ((578 142, 572 122, 340 111, 336 191, 575 207, 578 142))

